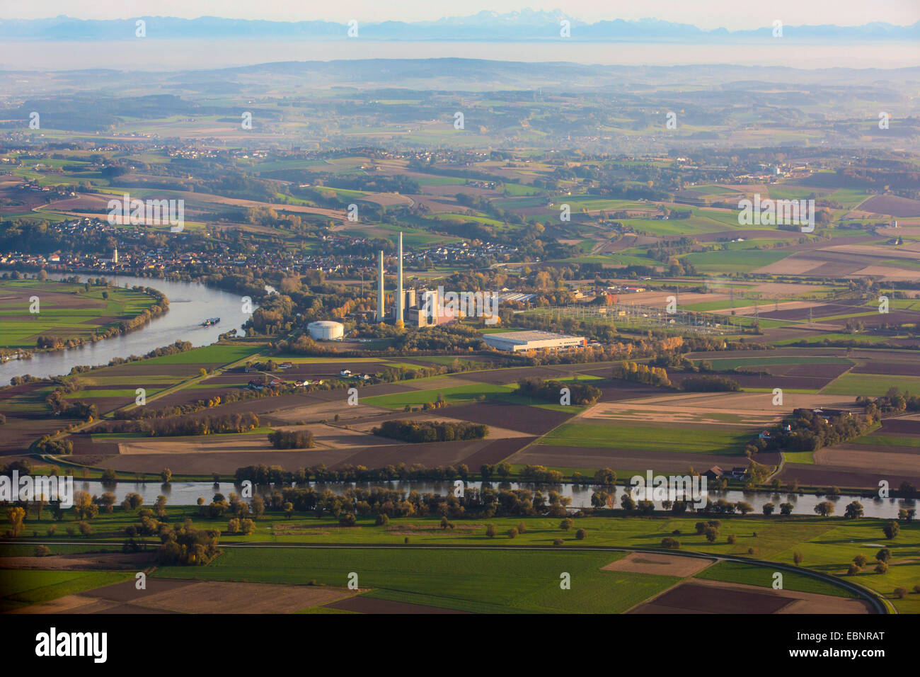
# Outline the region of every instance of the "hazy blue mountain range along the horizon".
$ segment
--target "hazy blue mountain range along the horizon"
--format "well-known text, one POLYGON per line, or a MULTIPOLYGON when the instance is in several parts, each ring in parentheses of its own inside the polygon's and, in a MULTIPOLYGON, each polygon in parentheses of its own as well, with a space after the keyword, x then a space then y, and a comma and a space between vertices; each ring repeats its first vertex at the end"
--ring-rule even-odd
MULTIPOLYGON (((168 39, 308 39, 348 40, 347 23, 333 21, 261 21, 236 18, 139 17, 146 22, 148 38, 168 39)), ((699 29, 690 24, 643 18, 638 21, 615 19, 588 23, 569 17, 560 10, 551 12, 523 9, 499 14, 482 11, 468 17, 440 18, 437 21, 383 21, 358 24, 358 37, 367 40, 462 40, 529 41, 566 40, 559 35, 559 24, 569 21, 568 40, 577 41, 736 41, 771 38, 773 27, 753 30, 699 29)), ((47 41, 133 40, 137 18, 80 19, 70 17, 40 19, 0 19, 0 38, 47 41)), ((920 39, 920 21, 910 26, 872 22, 862 26, 784 26, 783 37, 809 41, 910 41, 920 39)))

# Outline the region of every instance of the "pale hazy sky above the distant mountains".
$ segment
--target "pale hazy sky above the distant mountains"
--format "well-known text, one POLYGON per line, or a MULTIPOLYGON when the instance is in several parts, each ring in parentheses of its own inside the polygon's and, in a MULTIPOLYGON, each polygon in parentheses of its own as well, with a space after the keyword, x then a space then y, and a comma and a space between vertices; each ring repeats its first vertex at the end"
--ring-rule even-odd
POLYGON ((476 14, 533 9, 561 9, 586 21, 659 18, 703 29, 754 29, 780 19, 788 26, 829 24, 854 26, 884 21, 913 24, 920 20, 920 0, 4 0, 0 18, 132 18, 140 16, 196 18, 260 18, 275 21, 324 19, 359 21, 420 21, 476 14))

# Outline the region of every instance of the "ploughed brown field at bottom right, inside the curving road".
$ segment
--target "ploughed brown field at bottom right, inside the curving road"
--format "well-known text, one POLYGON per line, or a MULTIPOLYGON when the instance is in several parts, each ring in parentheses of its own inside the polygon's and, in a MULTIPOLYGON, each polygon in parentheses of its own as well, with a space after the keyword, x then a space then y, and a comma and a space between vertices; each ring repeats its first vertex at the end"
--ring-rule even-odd
POLYGON ((861 600, 697 578, 627 613, 870 613, 870 609, 861 600))

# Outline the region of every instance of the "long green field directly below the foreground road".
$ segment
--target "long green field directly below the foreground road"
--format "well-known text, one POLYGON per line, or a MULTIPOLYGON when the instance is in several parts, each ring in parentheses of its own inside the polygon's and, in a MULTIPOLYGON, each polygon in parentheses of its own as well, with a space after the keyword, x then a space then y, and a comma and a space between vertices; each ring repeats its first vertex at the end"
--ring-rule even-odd
POLYGON ((601 567, 621 553, 470 550, 231 550, 204 568, 155 576, 344 586, 350 572, 373 597, 478 613, 622 613, 680 578, 601 567), (526 572, 523 576, 522 573, 526 572), (569 573, 571 589, 560 589, 569 573))

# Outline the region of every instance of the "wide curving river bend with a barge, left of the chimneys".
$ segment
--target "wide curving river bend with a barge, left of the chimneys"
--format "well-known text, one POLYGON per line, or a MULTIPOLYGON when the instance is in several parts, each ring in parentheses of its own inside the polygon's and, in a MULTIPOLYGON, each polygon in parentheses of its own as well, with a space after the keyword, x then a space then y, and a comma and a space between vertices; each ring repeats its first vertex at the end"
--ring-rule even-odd
MULTIPOLYGON (((52 279, 72 276, 49 274, 52 279)), ((82 274, 81 279, 99 275, 82 274)), ((31 374, 45 378, 61 376, 77 365, 104 365, 113 357, 142 356, 154 348, 176 341, 190 341, 193 345, 210 345, 217 337, 231 329, 240 329, 249 318, 236 294, 213 289, 197 282, 169 282, 155 277, 131 275, 101 275, 118 286, 150 286, 163 292, 169 299, 167 313, 150 321, 142 329, 123 333, 95 344, 81 345, 52 353, 35 353, 31 359, 9 360, 0 365, 0 383, 9 383, 14 376, 31 374), (220 323, 202 327, 201 322, 219 317, 220 323)))

